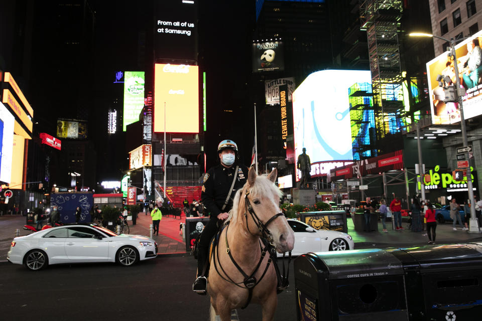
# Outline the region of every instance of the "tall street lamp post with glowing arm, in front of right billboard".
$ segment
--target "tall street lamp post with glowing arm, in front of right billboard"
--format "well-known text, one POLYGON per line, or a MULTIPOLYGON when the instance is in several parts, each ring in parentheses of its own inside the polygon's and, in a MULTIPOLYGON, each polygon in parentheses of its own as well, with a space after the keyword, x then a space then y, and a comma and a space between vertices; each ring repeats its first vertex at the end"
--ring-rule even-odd
MULTIPOLYGON (((462 95, 460 94, 460 77, 458 76, 458 66, 457 66, 457 56, 455 54, 455 41, 453 38, 450 40, 435 36, 435 35, 430 35, 430 34, 423 34, 423 33, 412 33, 409 34, 411 37, 435 37, 441 40, 444 40, 446 42, 450 42, 450 52, 453 55, 453 61, 454 61, 454 71, 455 71, 455 85, 457 89, 457 97, 458 97, 458 109, 460 111, 460 127, 462 129, 462 142, 464 146, 468 146, 467 142, 467 131, 465 129, 465 118, 463 116, 463 98, 462 95)), ((469 159, 468 151, 465 152, 465 159, 469 159)), ((470 171, 470 164, 469 167, 467 168, 467 189, 468 189, 468 198, 470 201, 470 221, 469 221, 469 233, 479 233, 479 226, 478 226, 478 220, 475 217, 475 202, 473 198, 473 186, 472 186, 472 174, 470 171)))

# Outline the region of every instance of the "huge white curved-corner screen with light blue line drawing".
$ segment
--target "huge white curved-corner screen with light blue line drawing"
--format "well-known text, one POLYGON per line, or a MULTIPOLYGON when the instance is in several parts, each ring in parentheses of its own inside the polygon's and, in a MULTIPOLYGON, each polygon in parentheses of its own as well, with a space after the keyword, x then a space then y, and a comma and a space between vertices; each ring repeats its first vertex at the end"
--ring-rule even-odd
POLYGON ((293 92, 295 161, 303 147, 312 163, 353 159, 348 88, 364 82, 372 83, 370 71, 322 70, 298 86, 293 92))

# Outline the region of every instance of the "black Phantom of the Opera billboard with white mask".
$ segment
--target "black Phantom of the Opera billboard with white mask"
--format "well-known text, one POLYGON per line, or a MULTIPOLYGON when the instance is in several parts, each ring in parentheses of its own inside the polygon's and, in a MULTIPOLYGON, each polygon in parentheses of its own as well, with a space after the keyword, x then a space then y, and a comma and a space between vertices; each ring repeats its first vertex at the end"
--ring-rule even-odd
POLYGON ((253 72, 283 71, 285 58, 280 40, 253 42, 253 72))

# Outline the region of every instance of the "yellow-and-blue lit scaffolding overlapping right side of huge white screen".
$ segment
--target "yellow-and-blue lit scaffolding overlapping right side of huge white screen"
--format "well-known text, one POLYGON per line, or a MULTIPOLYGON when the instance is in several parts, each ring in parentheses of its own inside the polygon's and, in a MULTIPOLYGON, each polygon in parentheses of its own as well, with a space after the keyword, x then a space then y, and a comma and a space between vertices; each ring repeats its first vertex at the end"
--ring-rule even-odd
POLYGON ((353 159, 377 156, 373 91, 370 83, 348 88, 353 159))

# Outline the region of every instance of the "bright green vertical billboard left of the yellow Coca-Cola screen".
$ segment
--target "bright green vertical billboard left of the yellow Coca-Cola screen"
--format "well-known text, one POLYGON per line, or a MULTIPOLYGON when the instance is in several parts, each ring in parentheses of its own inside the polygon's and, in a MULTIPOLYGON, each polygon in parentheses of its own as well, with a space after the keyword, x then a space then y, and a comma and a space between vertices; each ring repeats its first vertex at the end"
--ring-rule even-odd
POLYGON ((124 74, 123 131, 126 126, 139 121, 144 108, 144 71, 126 71, 124 74))

